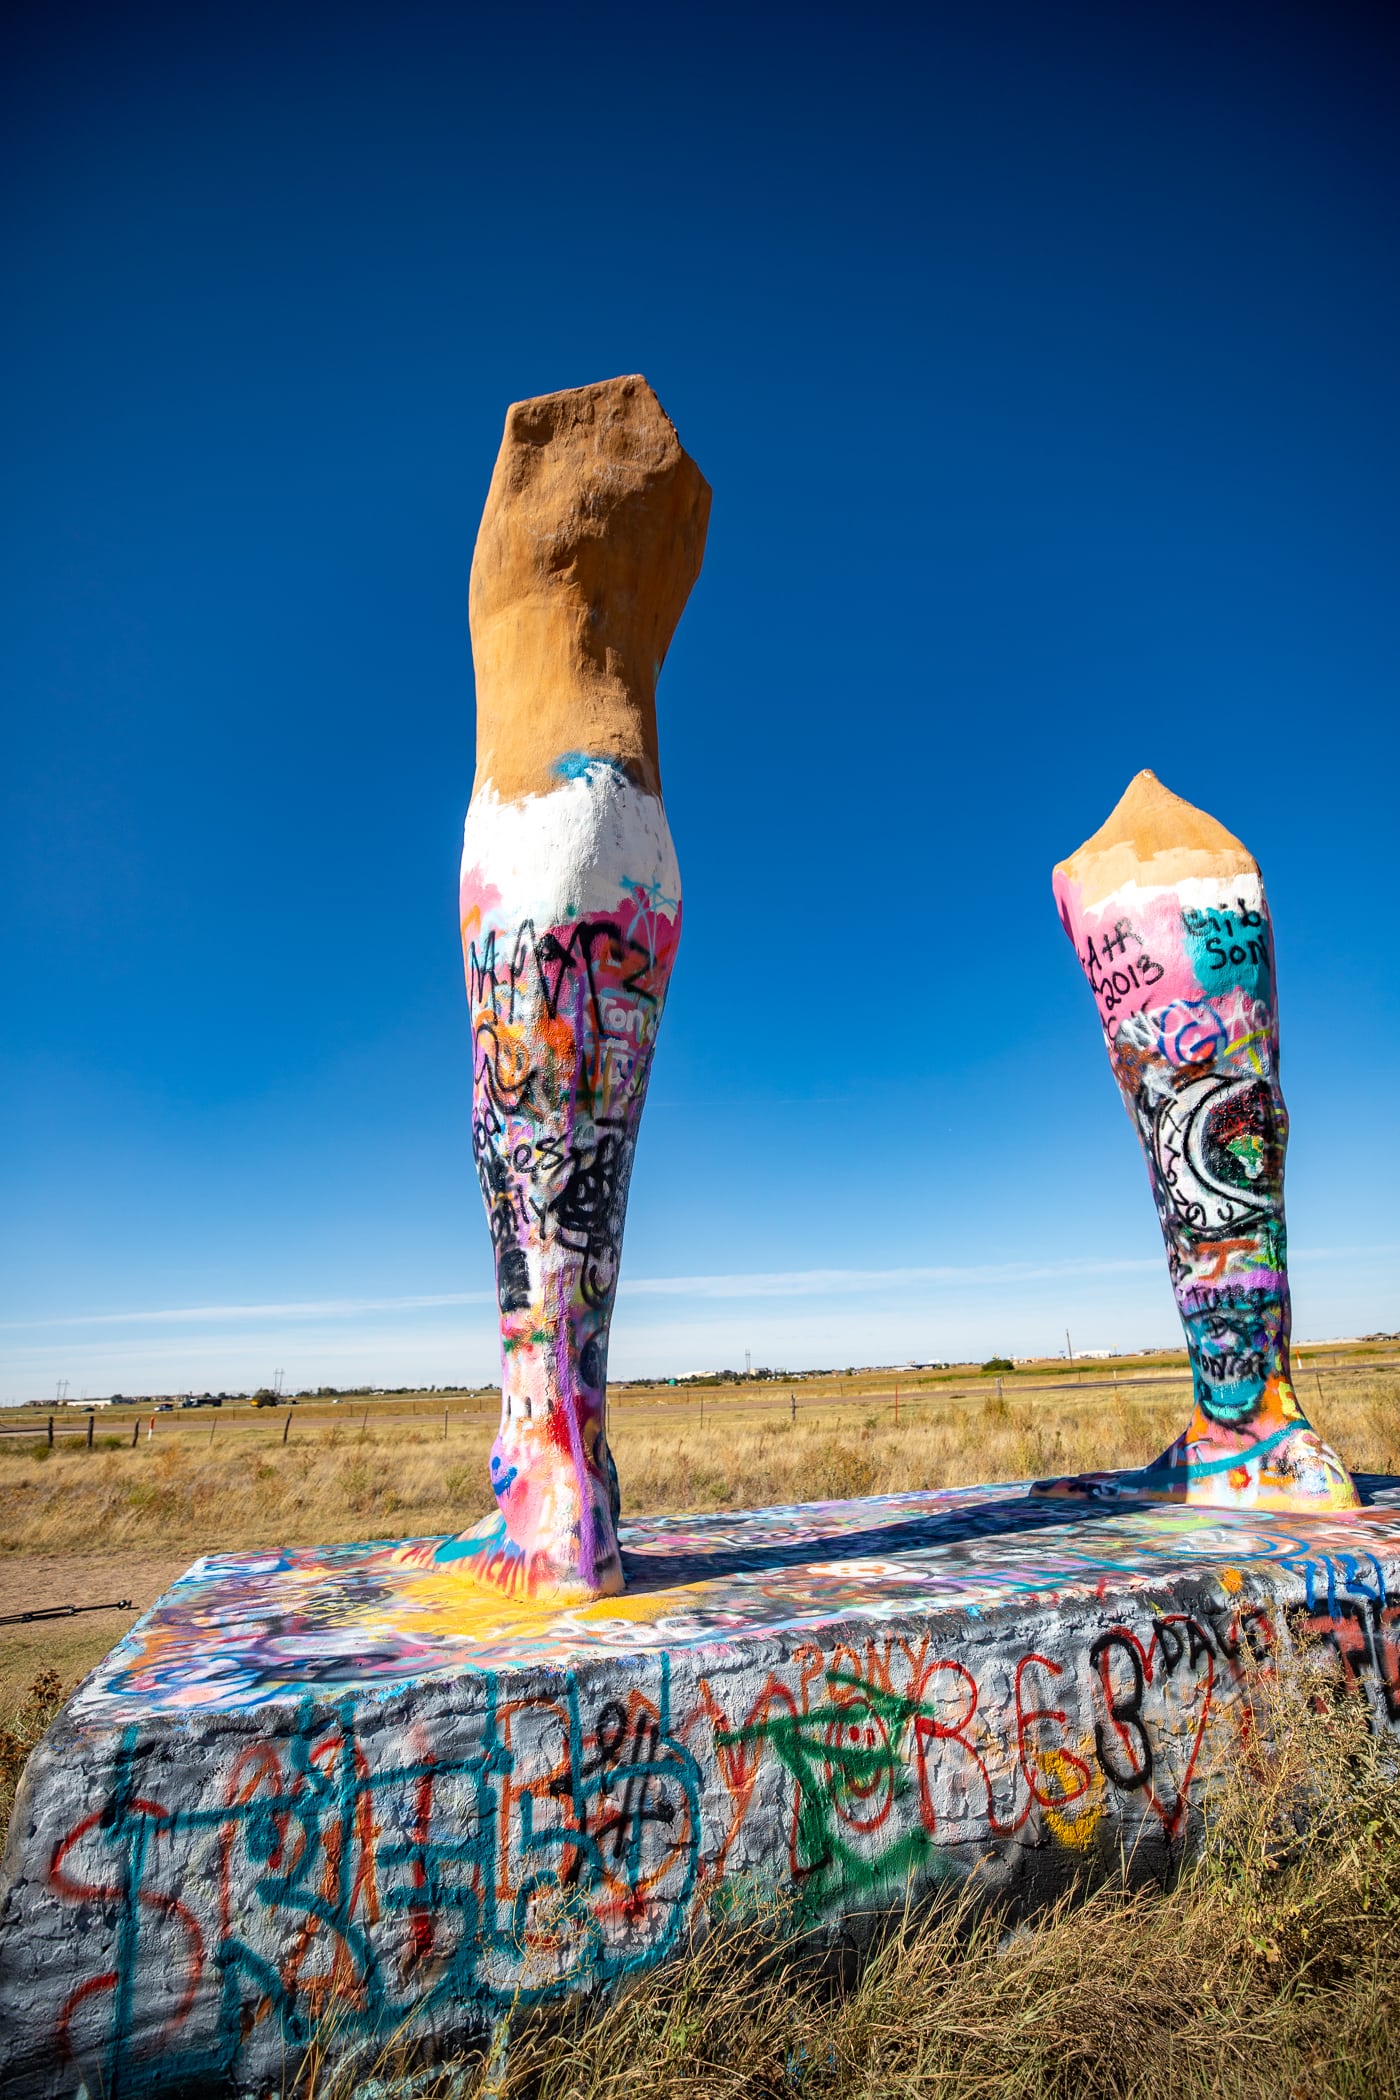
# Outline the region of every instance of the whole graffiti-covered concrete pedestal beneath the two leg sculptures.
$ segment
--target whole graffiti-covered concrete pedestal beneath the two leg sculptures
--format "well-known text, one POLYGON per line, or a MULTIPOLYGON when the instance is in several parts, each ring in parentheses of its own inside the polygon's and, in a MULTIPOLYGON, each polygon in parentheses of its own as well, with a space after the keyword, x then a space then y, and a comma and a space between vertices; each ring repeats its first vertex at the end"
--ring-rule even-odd
POLYGON ((1400 1483, 1251 1516, 1024 1487, 623 1527, 623 1596, 434 1539, 197 1562, 17 1804, 0 2090, 281 2090, 309 2035, 449 2041, 785 1892, 840 1932, 980 1869, 1190 1840, 1299 1625, 1400 1720, 1400 1483))

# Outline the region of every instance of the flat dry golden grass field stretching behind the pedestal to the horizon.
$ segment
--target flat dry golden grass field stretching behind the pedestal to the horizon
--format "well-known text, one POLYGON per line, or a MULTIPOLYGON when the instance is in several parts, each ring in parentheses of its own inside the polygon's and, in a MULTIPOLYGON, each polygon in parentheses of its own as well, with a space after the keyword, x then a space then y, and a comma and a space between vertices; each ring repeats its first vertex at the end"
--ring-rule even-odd
MULTIPOLYGON (((1362 1472, 1400 1472, 1394 1344, 1301 1350, 1303 1403, 1362 1472)), ((621 1386, 623 1514, 754 1508, 1136 1466, 1186 1422, 1184 1359, 976 1367, 735 1386, 621 1386)), ((130 1598, 206 1552, 462 1531, 491 1508, 495 1394, 0 1422, 0 1617, 130 1598), (132 1436, 136 1438, 132 1443, 132 1436)), ((90 1670, 134 1611, 0 1625, 0 1720, 48 1663, 90 1670)))

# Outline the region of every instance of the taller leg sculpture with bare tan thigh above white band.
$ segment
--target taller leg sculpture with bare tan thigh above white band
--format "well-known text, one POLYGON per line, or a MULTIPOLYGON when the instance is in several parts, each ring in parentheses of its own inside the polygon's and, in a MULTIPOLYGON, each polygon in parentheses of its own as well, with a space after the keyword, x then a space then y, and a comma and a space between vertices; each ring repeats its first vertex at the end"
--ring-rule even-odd
POLYGON ((462 850, 472 1147, 495 1245, 495 1514, 441 1556, 521 1598, 623 1586, 607 1352, 680 939, 657 672, 709 487, 642 378, 516 403, 472 561, 462 850))

